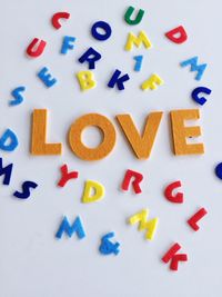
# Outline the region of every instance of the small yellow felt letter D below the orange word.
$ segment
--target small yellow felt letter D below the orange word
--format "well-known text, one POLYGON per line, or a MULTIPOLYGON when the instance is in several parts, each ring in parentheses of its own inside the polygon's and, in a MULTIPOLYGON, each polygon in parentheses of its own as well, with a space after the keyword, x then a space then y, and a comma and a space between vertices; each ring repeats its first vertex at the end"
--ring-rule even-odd
POLYGON ((93 180, 85 181, 84 191, 82 195, 83 204, 101 200, 103 196, 104 196, 104 187, 101 184, 93 180))

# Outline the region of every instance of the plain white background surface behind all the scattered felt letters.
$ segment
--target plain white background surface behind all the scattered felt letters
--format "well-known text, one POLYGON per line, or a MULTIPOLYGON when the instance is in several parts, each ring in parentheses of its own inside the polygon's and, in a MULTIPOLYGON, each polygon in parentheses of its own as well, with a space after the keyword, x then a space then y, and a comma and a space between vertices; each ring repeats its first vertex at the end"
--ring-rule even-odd
MULTIPOLYGON (((10 186, 1 186, 0 297, 222 296, 222 182, 213 172, 222 160, 221 1, 0 0, 0 132, 10 128, 19 138, 14 152, 1 151, 4 164, 12 161, 14 170, 10 186), (123 20, 130 4, 145 10, 142 22, 135 27, 123 20), (71 19, 58 31, 50 23, 57 11, 71 13, 71 19), (105 42, 90 34, 91 26, 98 20, 108 21, 112 27, 112 37, 105 42), (183 24, 189 34, 189 40, 181 46, 164 38, 167 31, 179 24, 183 24), (140 30, 145 30, 153 48, 124 51, 128 33, 140 30), (63 36, 77 38, 75 49, 67 56, 60 55, 63 36), (40 58, 29 59, 24 51, 34 37, 47 40, 48 46, 40 58), (94 71, 97 88, 81 92, 75 73, 87 69, 87 65, 78 63, 78 58, 89 47, 100 51, 102 60, 94 71), (137 55, 144 56, 141 72, 133 71, 137 55), (209 66, 201 82, 194 80, 195 73, 189 68, 179 66, 194 56, 209 66), (44 66, 58 79, 51 89, 37 78, 44 66), (115 68, 131 77, 122 92, 107 87, 115 68), (165 83, 157 91, 143 92, 140 85, 153 72, 165 83), (27 87, 24 102, 9 107, 10 91, 22 85, 27 87), (169 111, 199 108, 190 98, 198 86, 213 90, 201 107, 198 122, 203 130, 199 141, 204 142, 205 155, 175 157, 171 149, 169 111), (30 120, 34 108, 49 110, 48 140, 63 143, 62 156, 30 155, 30 120), (140 161, 114 117, 131 113, 142 128, 147 115, 154 110, 162 110, 164 117, 151 158, 140 161), (88 112, 107 116, 117 129, 117 146, 101 161, 78 159, 67 143, 71 122, 88 112), (78 170, 80 177, 58 188, 59 168, 64 162, 78 170), (144 175, 142 195, 119 190, 128 168, 144 175), (27 179, 34 180, 39 187, 28 200, 18 200, 12 192, 27 179), (87 179, 104 185, 103 200, 81 204, 87 179), (183 205, 172 205, 163 197, 164 187, 178 179, 183 184, 183 205), (137 226, 127 224, 129 216, 145 207, 151 217, 160 218, 153 241, 145 241, 137 226), (201 221, 200 231, 193 232, 185 221, 200 207, 205 207, 209 215, 201 221), (70 221, 81 216, 85 239, 54 238, 63 215, 70 221), (100 238, 108 231, 114 231, 121 244, 117 257, 99 254, 100 238), (178 273, 161 263, 174 241, 180 242, 181 251, 189 256, 178 273)), ((90 129, 84 137, 89 145, 99 140, 97 131, 90 129)))

